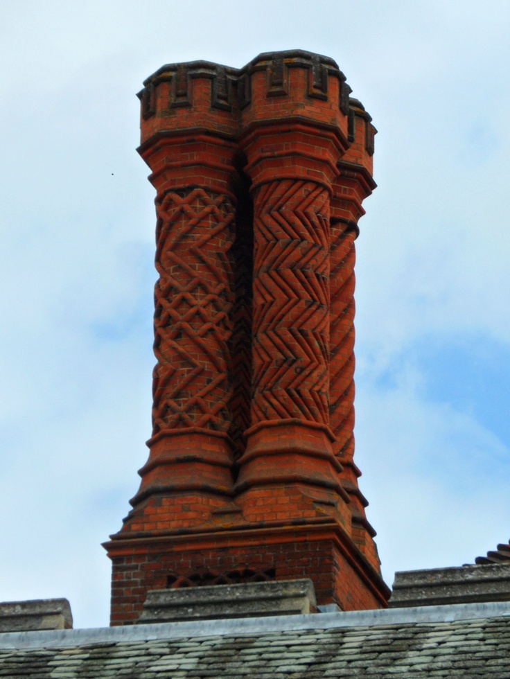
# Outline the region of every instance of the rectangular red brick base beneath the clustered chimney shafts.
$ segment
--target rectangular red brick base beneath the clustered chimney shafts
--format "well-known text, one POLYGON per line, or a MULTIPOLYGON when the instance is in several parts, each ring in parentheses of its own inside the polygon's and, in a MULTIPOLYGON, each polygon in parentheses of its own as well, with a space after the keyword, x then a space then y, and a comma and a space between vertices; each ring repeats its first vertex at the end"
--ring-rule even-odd
POLYGON ((310 577, 317 605, 385 606, 371 568, 332 522, 126 540, 113 559, 112 625, 134 624, 147 590, 310 577), (184 576, 182 574, 185 574, 184 576))

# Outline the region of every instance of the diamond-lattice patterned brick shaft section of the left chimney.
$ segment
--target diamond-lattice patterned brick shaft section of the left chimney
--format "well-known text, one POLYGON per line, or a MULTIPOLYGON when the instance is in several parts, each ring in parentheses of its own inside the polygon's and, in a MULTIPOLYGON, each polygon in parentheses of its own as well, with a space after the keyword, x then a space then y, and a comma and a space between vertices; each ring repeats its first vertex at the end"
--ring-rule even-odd
POLYGON ((192 188, 159 205, 153 436, 229 428, 233 230, 225 195, 192 188))

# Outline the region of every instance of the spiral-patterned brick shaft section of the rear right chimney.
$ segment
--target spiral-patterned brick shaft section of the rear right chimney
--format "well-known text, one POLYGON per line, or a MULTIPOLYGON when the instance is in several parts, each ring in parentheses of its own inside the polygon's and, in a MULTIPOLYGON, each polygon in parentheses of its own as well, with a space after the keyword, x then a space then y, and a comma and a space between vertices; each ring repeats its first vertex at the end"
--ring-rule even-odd
POLYGON ((329 422, 338 457, 354 453, 355 237, 351 224, 331 224, 329 422))

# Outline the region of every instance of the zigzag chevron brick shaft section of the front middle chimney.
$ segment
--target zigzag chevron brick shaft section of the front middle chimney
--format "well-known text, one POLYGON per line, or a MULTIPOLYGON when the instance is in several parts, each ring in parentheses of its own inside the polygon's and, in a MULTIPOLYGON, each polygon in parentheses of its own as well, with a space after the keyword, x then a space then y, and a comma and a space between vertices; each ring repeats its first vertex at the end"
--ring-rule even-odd
POLYGON ((315 182, 263 184, 254 199, 252 424, 328 423, 329 204, 315 182))

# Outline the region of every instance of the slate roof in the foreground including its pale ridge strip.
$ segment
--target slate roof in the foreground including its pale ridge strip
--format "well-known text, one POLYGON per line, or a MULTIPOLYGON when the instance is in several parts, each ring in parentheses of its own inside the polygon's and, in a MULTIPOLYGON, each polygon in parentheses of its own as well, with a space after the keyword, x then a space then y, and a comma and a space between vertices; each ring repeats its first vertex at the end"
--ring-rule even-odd
POLYGON ((510 677, 510 603, 4 633, 0 677, 510 677))

